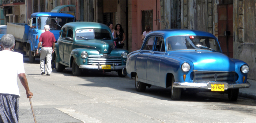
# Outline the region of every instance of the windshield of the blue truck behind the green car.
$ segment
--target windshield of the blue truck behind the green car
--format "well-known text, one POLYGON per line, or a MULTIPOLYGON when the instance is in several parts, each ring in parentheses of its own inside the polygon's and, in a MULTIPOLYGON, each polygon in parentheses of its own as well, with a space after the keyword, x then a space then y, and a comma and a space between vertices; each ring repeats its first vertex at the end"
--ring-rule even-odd
POLYGON ((50 30, 60 30, 64 24, 69 22, 74 22, 74 19, 54 16, 41 16, 37 18, 39 30, 44 30, 45 25, 49 25, 50 30))

